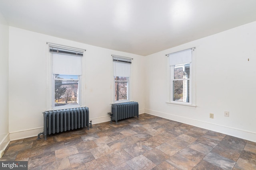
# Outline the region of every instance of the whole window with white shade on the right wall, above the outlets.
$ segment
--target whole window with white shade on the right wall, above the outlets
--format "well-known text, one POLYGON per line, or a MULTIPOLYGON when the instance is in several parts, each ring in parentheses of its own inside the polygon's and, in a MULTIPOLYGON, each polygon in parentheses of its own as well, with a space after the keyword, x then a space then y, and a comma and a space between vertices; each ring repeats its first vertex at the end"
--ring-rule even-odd
POLYGON ((194 86, 192 84, 194 78, 194 74, 192 74, 193 52, 194 48, 168 55, 170 66, 170 103, 195 105, 194 86))

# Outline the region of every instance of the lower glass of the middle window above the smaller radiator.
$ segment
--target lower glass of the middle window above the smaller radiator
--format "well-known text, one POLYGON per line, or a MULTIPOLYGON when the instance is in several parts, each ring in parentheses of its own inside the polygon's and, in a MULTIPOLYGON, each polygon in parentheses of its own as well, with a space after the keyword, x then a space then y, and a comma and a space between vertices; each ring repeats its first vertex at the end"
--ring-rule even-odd
POLYGON ((127 100, 127 83, 115 82, 115 101, 127 100))

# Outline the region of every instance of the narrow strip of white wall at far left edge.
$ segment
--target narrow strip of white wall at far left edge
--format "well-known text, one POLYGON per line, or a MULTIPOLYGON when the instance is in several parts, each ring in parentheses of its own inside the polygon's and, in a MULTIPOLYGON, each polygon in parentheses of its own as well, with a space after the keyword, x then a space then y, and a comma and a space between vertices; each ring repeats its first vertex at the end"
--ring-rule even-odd
MULTIPOLYGON (((8 129, 8 43, 9 26, 0 13, 0 150, 4 150, 9 142, 8 129)), ((0 151, 1 152, 1 151, 0 151)), ((1 157, 1 156, 0 156, 1 157)))

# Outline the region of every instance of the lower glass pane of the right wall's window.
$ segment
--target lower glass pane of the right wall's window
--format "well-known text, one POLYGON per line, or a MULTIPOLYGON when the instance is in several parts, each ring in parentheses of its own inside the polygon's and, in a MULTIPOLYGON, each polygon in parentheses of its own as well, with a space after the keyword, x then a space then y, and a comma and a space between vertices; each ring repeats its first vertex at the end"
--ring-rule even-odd
POLYGON ((189 80, 173 81, 173 101, 189 102, 189 80))

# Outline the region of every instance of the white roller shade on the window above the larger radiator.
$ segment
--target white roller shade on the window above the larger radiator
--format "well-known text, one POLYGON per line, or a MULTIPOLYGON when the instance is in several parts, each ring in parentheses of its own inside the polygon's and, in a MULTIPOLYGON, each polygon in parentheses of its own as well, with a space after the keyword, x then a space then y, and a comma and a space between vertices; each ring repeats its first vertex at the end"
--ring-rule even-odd
POLYGON ((82 75, 82 57, 52 53, 53 74, 82 75))

